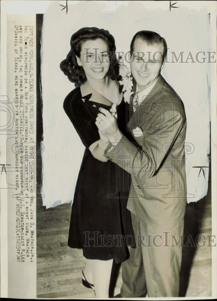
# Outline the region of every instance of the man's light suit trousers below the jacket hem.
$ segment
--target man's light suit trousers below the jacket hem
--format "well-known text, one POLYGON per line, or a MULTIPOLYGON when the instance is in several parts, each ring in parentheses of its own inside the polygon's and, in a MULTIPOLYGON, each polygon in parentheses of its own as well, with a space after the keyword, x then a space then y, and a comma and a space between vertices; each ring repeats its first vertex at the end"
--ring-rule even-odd
POLYGON ((121 295, 178 297, 184 219, 155 227, 131 216, 137 247, 129 247, 130 257, 122 262, 121 295))

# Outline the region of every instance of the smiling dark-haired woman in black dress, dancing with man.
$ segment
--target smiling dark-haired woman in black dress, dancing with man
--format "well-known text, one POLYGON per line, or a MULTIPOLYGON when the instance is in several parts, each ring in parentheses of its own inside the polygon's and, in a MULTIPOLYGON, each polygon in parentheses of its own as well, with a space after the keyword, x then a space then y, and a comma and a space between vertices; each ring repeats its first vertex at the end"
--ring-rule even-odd
MULTIPOLYGON (((83 248, 87 262, 82 282, 96 297, 108 298, 113 259, 128 257, 124 242, 134 235, 126 209, 130 175, 103 156, 108 140, 99 135, 99 108, 116 104, 118 125, 126 133, 127 104, 116 81, 119 66, 115 40, 104 29, 82 28, 71 37, 71 50, 60 68, 80 87, 64 100, 64 110, 86 147, 71 211, 68 246, 83 248)), ((113 105, 114 107, 114 105, 113 105)), ((76 160, 76 158, 75 158, 76 160)))

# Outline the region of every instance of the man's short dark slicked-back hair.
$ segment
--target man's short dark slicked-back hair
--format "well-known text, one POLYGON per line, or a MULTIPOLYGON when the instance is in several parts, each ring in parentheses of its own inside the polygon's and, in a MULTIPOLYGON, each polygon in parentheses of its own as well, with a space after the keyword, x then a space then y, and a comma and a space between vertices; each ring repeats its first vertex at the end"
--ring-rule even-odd
POLYGON ((142 41, 146 42, 148 45, 153 44, 162 44, 164 51, 162 54, 162 61, 164 62, 167 56, 167 44, 164 38, 162 38, 158 33, 149 30, 141 30, 138 31, 132 39, 130 50, 131 52, 134 51, 134 43, 136 39, 141 39, 142 41))

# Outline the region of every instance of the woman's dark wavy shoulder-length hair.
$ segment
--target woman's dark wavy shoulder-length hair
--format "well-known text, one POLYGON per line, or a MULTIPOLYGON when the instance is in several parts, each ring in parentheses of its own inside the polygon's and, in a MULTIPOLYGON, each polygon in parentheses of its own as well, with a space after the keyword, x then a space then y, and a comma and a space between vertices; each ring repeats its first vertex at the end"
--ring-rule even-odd
POLYGON ((71 50, 67 54, 66 59, 60 63, 60 69, 66 76, 68 76, 70 82, 74 82, 79 85, 86 82, 86 75, 83 67, 78 66, 76 55, 77 57, 80 57, 81 47, 84 42, 96 39, 102 39, 108 45, 110 67, 107 76, 112 80, 118 78, 119 65, 115 54, 116 46, 114 37, 108 32, 108 30, 96 27, 84 27, 71 36, 71 50))

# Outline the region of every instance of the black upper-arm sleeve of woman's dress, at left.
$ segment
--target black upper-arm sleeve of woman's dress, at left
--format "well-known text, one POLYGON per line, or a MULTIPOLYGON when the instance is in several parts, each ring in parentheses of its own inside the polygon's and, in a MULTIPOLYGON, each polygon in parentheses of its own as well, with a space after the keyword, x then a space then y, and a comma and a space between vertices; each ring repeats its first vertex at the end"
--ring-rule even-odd
POLYGON ((99 140, 98 128, 95 121, 80 99, 74 101, 67 97, 64 100, 63 108, 85 147, 89 147, 93 142, 99 140))

